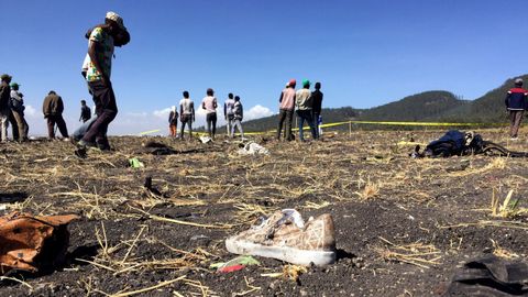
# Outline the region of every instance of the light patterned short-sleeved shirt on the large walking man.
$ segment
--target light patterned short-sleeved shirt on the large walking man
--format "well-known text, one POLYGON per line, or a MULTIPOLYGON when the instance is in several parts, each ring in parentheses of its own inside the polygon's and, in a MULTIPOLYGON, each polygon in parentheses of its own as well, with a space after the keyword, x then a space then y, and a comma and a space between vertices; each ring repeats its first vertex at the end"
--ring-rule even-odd
POLYGON ((98 26, 91 31, 88 43, 94 43, 96 46, 96 55, 102 73, 99 73, 90 59, 89 54, 86 55, 82 63, 82 70, 86 70, 87 81, 101 80, 103 75, 110 77, 112 68, 113 56, 113 37, 108 34, 102 28, 98 26))

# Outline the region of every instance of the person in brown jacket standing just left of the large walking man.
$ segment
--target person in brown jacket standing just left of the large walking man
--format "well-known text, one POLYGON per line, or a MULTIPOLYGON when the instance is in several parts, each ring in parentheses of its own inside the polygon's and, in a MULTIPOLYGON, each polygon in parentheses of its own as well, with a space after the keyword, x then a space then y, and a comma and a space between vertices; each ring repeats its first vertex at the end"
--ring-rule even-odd
POLYGON ((61 131, 63 138, 68 139, 68 130, 66 129, 66 122, 63 119, 63 98, 61 98, 55 91, 50 91, 46 98, 44 98, 44 103, 42 105, 44 119, 47 119, 47 135, 50 140, 55 139, 55 124, 57 124, 58 131, 61 131))

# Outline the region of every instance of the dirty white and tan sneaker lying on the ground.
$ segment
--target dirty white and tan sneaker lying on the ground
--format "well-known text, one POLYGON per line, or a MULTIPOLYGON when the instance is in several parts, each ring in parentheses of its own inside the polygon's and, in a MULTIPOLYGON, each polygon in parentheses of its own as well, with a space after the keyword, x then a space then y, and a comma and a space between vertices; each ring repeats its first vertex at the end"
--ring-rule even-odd
POLYGON ((257 227, 226 240, 229 252, 278 258, 297 265, 318 266, 336 262, 333 220, 329 213, 299 223, 296 210, 273 213, 257 227))

